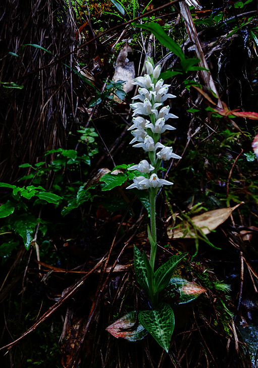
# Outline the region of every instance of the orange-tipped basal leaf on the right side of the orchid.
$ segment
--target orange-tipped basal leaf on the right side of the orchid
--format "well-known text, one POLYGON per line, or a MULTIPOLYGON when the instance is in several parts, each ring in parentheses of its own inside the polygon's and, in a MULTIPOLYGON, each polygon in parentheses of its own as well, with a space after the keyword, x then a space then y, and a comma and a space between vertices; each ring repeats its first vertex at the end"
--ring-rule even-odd
POLYGON ((179 277, 173 277, 170 280, 168 289, 170 295, 175 295, 177 291, 180 292, 179 304, 189 303, 206 291, 202 286, 179 277))

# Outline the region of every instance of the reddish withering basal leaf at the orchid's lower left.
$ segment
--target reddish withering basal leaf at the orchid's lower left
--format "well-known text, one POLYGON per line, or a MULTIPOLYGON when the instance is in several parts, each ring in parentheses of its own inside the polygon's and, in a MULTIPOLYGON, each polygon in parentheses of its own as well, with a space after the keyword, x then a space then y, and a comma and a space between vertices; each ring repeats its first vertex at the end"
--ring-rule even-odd
POLYGON ((147 335, 147 331, 139 323, 132 331, 123 331, 123 329, 128 329, 135 324, 136 311, 133 310, 127 313, 124 317, 120 318, 112 325, 106 328, 106 330, 111 333, 111 335, 116 338, 122 337, 128 341, 137 341, 143 339, 147 335))

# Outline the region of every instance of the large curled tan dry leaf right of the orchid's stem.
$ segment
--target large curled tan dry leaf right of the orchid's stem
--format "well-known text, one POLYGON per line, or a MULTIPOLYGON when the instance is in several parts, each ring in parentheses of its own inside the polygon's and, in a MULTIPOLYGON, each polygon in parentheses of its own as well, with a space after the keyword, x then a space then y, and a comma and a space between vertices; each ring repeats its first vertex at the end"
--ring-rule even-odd
MULTIPOLYGON (((219 225, 224 223, 229 216, 232 214, 235 208, 241 203, 238 203, 234 207, 214 209, 214 211, 205 212, 202 215, 194 216, 191 222, 194 226, 202 231, 204 235, 210 234, 211 231, 215 230, 219 225)), ((171 239, 179 238, 195 238, 196 233, 194 229, 189 225, 189 231, 187 231, 186 225, 183 222, 177 228, 173 229, 168 227, 168 237, 171 239)))

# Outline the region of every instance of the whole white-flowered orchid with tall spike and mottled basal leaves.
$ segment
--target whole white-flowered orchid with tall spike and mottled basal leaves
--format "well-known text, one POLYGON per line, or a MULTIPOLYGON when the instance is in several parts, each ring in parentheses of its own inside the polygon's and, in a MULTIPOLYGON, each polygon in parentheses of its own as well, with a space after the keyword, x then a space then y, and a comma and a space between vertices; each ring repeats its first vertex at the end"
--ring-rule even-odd
POLYGON ((172 278, 177 264, 185 257, 186 253, 172 256, 164 265, 154 271, 157 251, 156 197, 161 186, 173 184, 159 178, 158 171, 162 160, 181 159, 181 157, 173 153, 172 147, 165 146, 160 142, 162 133, 175 129, 166 122, 170 118, 176 119, 178 117, 169 112, 169 106, 163 106, 163 104, 168 98, 176 96, 168 93, 170 85, 164 84, 164 80, 159 79, 160 65, 154 68, 153 60, 147 58, 145 66, 147 74, 144 77, 134 79, 133 84, 139 86, 139 94, 133 99, 138 99, 140 102, 133 102, 130 105, 133 110, 133 124, 128 130, 134 136, 130 143, 134 143, 133 147, 143 148, 148 155, 146 157, 148 160, 144 159, 138 165, 128 168, 128 170, 135 170, 135 177, 133 184, 129 185, 127 189, 147 190, 149 194, 150 228, 148 226, 147 231, 150 256, 148 258, 145 251, 141 253, 134 246, 134 271, 138 284, 149 299, 151 309, 139 313, 130 312, 109 326, 107 330, 116 337, 124 337, 130 341, 141 339, 149 332, 168 352, 175 325, 174 313, 170 304, 160 300, 159 293, 163 289, 169 288, 170 294, 175 295, 175 290, 179 290, 179 303, 186 303, 195 299, 205 289, 181 278, 172 278), (191 296, 189 297, 189 295, 191 296), (137 314, 138 323, 136 326, 134 319, 137 319, 137 314))

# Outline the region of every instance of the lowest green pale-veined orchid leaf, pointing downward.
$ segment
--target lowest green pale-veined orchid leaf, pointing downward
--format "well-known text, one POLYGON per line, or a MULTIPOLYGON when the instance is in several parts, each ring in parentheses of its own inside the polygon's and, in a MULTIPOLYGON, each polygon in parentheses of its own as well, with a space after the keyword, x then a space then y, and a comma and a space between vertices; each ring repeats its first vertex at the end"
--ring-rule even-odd
POLYGON ((175 326, 174 313, 169 304, 161 303, 157 309, 139 313, 140 324, 169 352, 171 335, 175 326))

